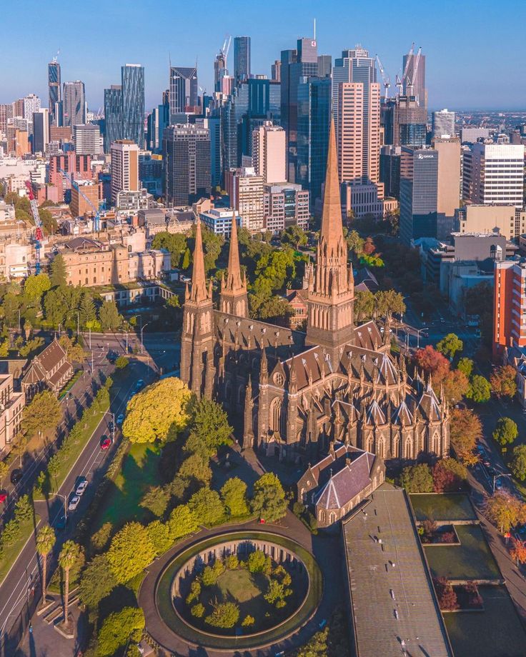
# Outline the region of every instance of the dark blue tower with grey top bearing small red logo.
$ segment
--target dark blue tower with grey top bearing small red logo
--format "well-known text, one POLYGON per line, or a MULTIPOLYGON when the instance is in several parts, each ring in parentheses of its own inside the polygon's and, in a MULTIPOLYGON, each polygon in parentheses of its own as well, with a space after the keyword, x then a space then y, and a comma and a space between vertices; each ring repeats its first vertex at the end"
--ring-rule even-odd
POLYGON ((318 76, 318 52, 314 39, 297 41, 296 50, 282 51, 281 124, 287 133, 287 180, 296 182, 298 149, 298 89, 303 78, 318 76))

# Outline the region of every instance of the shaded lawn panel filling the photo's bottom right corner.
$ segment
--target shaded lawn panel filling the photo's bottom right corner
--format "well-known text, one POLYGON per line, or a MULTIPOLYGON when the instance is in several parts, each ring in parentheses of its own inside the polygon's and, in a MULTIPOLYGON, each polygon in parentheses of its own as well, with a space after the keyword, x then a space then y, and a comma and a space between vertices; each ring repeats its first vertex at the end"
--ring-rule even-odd
POLYGON ((485 611, 445 613, 455 657, 523 657, 526 634, 504 586, 480 586, 485 611))

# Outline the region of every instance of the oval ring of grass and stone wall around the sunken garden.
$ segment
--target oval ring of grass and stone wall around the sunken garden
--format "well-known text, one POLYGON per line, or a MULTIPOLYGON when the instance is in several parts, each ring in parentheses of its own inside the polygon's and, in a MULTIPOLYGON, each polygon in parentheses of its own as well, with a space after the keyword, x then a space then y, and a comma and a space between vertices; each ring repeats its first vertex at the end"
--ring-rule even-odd
POLYGON ((264 648, 297 632, 314 615, 322 599, 322 592, 322 572, 312 554, 299 543, 269 531, 234 531, 206 538, 177 554, 157 580, 155 605, 165 625, 187 643, 232 653, 237 650, 264 648), (307 583, 304 596, 287 618, 263 631, 251 632, 247 628, 242 634, 224 636, 214 633, 214 628, 211 628, 211 631, 197 628, 192 621, 187 621, 179 613, 177 607, 180 608, 183 603, 183 596, 179 593, 179 581, 194 570, 197 561, 213 563, 215 558, 234 553, 232 546, 237 546, 234 550, 238 553, 241 550, 247 556, 250 551, 260 549, 272 556, 277 563, 294 563, 299 566, 307 583))

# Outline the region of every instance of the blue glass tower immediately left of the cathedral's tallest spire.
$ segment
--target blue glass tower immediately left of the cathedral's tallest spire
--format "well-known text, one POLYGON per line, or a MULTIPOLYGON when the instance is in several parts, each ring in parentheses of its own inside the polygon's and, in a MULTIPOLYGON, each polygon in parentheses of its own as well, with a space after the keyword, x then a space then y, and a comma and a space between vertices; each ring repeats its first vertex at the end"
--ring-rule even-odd
POLYGON ((298 87, 296 182, 308 189, 314 208, 322 199, 331 121, 330 78, 303 78, 298 87))

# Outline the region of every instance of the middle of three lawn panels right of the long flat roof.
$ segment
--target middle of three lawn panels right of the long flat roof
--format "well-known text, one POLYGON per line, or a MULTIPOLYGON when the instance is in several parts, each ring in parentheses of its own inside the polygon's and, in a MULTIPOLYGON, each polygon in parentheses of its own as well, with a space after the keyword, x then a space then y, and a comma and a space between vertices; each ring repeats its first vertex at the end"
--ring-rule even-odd
POLYGON ((500 578, 497 563, 477 525, 455 525, 460 546, 424 546, 433 577, 500 578))

